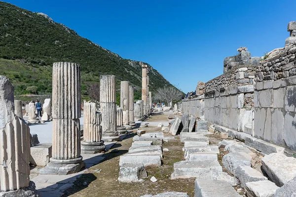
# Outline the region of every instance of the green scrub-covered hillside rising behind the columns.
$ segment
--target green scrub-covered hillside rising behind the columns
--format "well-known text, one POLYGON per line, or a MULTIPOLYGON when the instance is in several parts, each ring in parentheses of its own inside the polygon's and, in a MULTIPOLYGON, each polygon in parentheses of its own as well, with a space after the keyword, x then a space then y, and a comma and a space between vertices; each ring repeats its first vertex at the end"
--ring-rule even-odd
MULTIPOLYGON (((87 84, 99 82, 102 74, 116 76, 117 90, 119 81, 127 80, 141 91, 142 68, 138 61, 121 58, 45 14, 0 1, 0 39, 0 75, 9 77, 20 94, 32 93, 28 87, 33 91, 35 87, 37 94, 51 92, 52 64, 61 61, 81 65, 82 95, 87 96, 87 84)), ((171 85, 148 67, 149 90, 171 85)))

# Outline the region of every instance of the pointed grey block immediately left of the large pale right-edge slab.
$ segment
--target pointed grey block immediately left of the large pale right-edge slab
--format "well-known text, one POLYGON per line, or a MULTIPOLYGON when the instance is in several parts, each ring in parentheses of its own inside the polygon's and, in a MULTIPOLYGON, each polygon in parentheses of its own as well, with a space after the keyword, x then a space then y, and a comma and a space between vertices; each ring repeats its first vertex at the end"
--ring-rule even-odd
POLYGON ((243 189, 246 189, 246 183, 248 182, 267 180, 259 171, 247 165, 239 165, 235 169, 235 177, 238 178, 243 189))

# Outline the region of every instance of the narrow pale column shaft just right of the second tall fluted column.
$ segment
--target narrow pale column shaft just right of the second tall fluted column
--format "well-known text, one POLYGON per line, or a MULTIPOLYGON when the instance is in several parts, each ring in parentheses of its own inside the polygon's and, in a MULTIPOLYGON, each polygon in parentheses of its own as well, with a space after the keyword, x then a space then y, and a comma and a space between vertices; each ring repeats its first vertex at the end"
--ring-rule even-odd
POLYGON ((123 112, 123 124, 128 125, 129 120, 129 82, 120 82, 120 108, 123 112))

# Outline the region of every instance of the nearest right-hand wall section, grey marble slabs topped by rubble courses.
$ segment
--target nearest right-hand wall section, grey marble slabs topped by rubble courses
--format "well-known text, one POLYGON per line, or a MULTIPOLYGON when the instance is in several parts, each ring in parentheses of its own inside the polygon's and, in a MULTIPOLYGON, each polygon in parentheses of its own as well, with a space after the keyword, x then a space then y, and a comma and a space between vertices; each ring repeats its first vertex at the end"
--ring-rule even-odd
POLYGON ((296 45, 256 68, 253 136, 296 150, 296 45))

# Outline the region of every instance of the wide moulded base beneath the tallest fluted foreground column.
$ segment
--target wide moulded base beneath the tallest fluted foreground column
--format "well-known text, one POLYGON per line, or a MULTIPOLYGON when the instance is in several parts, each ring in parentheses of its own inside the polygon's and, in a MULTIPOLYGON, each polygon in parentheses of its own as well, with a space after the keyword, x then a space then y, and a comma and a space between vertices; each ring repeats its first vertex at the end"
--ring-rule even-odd
POLYGON ((67 175, 79 172, 85 167, 81 156, 71 160, 56 160, 50 158, 49 161, 50 162, 46 164, 44 168, 40 169, 40 174, 67 175))

